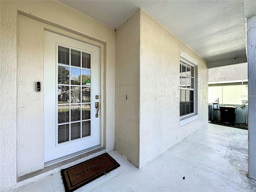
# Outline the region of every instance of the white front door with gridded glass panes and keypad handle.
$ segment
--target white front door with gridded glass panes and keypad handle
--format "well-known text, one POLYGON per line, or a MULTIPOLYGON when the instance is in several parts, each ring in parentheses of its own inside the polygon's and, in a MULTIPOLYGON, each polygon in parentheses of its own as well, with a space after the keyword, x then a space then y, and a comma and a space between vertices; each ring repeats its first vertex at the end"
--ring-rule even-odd
POLYGON ((44 31, 44 162, 100 147, 99 48, 44 31))

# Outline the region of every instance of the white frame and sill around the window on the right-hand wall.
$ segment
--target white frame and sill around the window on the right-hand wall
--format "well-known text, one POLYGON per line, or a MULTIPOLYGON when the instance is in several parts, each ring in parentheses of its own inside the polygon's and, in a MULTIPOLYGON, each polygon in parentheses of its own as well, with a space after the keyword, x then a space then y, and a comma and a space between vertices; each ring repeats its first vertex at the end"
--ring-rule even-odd
MULTIPOLYGON (((189 56, 188 54, 186 54, 185 52, 183 52, 182 50, 180 50, 180 60, 182 60, 194 67, 194 113, 187 114, 187 115, 180 117, 180 126, 183 126, 185 124, 188 124, 188 123, 198 119, 198 86, 197 86, 198 61, 196 59, 192 58, 191 56, 189 56)), ((180 88, 179 88, 179 90, 180 90, 180 88)))

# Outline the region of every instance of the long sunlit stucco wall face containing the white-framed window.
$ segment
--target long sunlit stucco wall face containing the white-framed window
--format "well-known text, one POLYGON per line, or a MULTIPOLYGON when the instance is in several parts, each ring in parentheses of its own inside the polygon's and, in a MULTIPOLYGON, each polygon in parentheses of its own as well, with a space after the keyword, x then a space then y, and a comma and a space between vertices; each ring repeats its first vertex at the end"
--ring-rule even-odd
POLYGON ((141 10, 140 167, 207 125, 207 98, 207 62, 141 10), (198 120, 181 127, 180 50, 198 61, 198 120))

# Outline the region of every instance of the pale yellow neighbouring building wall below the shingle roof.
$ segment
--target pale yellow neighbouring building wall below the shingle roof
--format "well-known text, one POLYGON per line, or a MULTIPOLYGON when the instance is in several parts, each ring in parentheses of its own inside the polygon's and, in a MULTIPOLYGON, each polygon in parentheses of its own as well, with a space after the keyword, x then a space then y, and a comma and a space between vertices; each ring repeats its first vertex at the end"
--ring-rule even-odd
POLYGON ((241 105, 248 100, 248 82, 209 84, 208 93, 208 103, 218 97, 219 104, 241 105))

